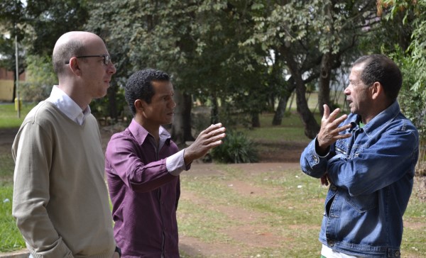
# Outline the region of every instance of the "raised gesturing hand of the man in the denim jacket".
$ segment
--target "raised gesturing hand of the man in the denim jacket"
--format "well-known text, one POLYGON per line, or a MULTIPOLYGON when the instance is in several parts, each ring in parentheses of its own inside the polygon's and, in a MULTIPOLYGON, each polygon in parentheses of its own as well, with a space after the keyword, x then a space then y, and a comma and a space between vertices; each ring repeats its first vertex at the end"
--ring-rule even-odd
POLYGON ((339 134, 340 132, 351 128, 350 124, 339 127, 339 124, 347 118, 347 115, 337 118, 339 113, 340 108, 336 108, 336 110, 330 113, 330 108, 324 104, 324 115, 321 119, 321 129, 317 136, 319 148, 317 151, 326 152, 327 148, 337 140, 351 137, 350 133, 343 135, 339 134))

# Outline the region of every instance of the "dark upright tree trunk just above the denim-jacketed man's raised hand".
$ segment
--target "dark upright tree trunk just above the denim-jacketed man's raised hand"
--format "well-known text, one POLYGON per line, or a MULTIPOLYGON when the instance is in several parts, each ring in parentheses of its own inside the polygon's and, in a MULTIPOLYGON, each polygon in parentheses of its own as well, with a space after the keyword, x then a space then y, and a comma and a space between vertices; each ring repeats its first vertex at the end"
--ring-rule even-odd
POLYGON ((320 114, 324 113, 324 104, 327 104, 329 108, 332 108, 330 101, 330 75, 332 73, 332 53, 327 52, 322 55, 320 64, 320 84, 318 86, 318 108, 320 114))

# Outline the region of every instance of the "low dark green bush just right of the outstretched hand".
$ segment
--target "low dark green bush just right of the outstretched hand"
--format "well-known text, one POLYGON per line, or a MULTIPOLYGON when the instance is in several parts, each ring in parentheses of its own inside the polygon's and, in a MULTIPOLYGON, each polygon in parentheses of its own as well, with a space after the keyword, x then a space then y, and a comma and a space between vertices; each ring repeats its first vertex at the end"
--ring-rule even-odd
POLYGON ((210 155, 221 163, 251 163, 258 161, 254 143, 241 132, 226 133, 222 145, 215 147, 210 155))

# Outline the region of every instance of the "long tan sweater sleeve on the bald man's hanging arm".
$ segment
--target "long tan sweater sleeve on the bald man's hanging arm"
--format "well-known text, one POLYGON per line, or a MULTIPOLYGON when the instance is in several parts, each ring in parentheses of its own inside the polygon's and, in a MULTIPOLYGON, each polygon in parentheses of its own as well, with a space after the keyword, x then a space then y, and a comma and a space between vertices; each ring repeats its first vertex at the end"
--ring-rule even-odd
POLYGON ((16 162, 12 215, 34 257, 72 257, 46 211, 53 142, 33 121, 21 126, 12 146, 16 162))

